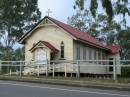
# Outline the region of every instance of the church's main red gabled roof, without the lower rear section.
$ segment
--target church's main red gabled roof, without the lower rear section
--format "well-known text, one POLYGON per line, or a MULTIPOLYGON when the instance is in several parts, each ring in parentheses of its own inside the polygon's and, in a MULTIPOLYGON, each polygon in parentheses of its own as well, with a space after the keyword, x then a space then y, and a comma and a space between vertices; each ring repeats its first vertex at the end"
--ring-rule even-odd
POLYGON ((90 33, 88 32, 83 32, 80 31, 77 28, 72 27, 69 24, 63 23, 61 21, 58 21, 52 17, 49 16, 45 16, 43 19, 41 19, 30 31, 28 31, 27 33, 25 33, 22 38, 20 38, 19 42, 23 42, 29 35, 29 33, 31 31, 33 31, 33 29, 35 27, 37 27, 44 19, 48 18, 49 20, 51 20, 52 22, 54 22, 56 25, 58 25, 59 27, 61 27, 62 29, 64 29, 65 31, 67 31, 69 34, 71 34, 72 36, 74 36, 75 38, 81 40, 81 41, 85 41, 88 44, 91 44, 95 47, 98 48, 102 48, 105 49, 107 51, 112 51, 112 49, 110 49, 109 47, 105 46, 101 41, 99 41, 98 39, 96 39, 94 36, 92 36, 90 33), (26 35, 28 35, 27 37, 25 37, 26 35))

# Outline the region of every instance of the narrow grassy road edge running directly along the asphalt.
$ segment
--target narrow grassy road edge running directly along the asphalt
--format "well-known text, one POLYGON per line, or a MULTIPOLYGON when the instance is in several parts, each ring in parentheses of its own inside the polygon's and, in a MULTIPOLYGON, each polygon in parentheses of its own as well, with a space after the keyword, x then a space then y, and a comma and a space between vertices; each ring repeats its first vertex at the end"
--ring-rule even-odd
POLYGON ((122 83, 106 83, 106 82, 91 82, 84 80, 36 78, 36 77, 12 77, 12 76, 0 76, 0 80, 97 88, 106 90, 130 91, 130 84, 122 84, 122 83))

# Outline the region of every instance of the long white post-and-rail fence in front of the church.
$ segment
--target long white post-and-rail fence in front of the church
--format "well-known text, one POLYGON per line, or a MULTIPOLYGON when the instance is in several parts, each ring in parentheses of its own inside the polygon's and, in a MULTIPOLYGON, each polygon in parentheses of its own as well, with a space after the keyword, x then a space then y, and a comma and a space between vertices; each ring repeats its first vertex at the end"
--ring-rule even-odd
POLYGON ((81 74, 105 77, 112 75, 113 79, 117 75, 122 75, 121 68, 130 68, 130 60, 57 60, 57 61, 0 61, 1 75, 18 75, 18 76, 40 76, 62 73, 65 77, 73 74, 80 77, 81 74))

